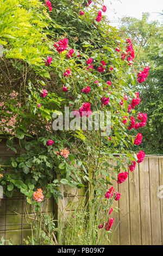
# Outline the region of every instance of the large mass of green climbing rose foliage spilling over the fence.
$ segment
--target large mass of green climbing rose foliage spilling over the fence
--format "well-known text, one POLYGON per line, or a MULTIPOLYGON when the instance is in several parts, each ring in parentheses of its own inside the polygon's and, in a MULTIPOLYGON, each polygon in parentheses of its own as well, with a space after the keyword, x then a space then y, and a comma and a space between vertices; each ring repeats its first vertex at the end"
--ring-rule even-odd
MULTIPOLYGON (((117 179, 120 169, 126 170, 127 164, 137 160, 128 149, 133 144, 128 124, 122 123, 124 116, 130 117, 129 101, 120 105, 124 95, 131 100, 136 91, 130 88, 130 83, 135 85, 133 68, 121 59, 121 54, 126 52, 126 39, 108 25, 105 16, 101 22, 95 20, 103 1, 89 8, 84 7, 82 0, 52 1, 51 13, 43 3, 1 0, 0 11, 4 45, 0 62, 1 133, 8 136, 7 147, 18 154, 5 163, 10 170, 4 170, 1 184, 7 196, 11 197, 14 190, 21 191, 33 205, 37 205, 33 200, 36 188, 41 188, 46 198, 62 198, 60 184, 81 188, 90 180, 93 186, 101 185, 97 190, 104 194, 112 179, 117 179), (79 15, 81 9, 85 10, 84 16, 79 15), (68 51, 59 54, 54 47, 54 42, 64 38, 68 39, 68 50, 74 49, 70 59, 66 57, 68 51), (121 47, 120 53, 115 50, 117 46, 121 47), (47 56, 53 59, 49 66, 45 65, 47 56), (90 57, 92 72, 86 69, 86 60, 90 57), (97 69, 102 60, 106 69, 100 73, 97 69), (111 67, 114 70, 110 71, 111 67), (64 77, 68 68, 72 75, 64 77), (112 82, 109 89, 107 81, 112 82), (68 93, 62 92, 63 86, 68 88, 68 93), (87 86, 91 92, 81 93, 87 86), (41 97, 42 89, 48 90, 46 97, 41 97), (101 108, 103 96, 109 97, 110 102, 101 108), (70 105, 71 112, 79 109, 83 102, 90 102, 92 111, 110 111, 111 141, 108 136, 102 136, 103 127, 99 131, 52 129, 54 112, 65 114, 64 107, 70 105), (48 139, 54 144, 47 146, 48 139), (57 155, 57 151, 65 148, 71 153, 67 159, 57 155), (120 158, 114 154, 120 154, 120 158), (114 173, 107 166, 106 155, 118 162, 112 167, 114 173), (96 180, 96 175, 106 178, 96 180)), ((137 109, 131 114, 136 116, 136 112, 137 109)))

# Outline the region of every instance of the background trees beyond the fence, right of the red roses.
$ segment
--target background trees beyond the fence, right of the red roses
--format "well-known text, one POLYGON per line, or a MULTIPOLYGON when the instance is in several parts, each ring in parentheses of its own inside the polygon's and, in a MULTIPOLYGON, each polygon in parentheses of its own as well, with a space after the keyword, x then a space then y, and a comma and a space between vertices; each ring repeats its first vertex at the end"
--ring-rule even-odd
MULTIPOLYGON (((120 30, 133 41, 137 70, 140 64, 141 70, 147 65, 150 68, 146 82, 136 83, 141 98, 138 109, 148 114, 147 125, 137 130, 143 135, 143 143, 139 148, 147 154, 163 154, 162 27, 157 21, 149 22, 148 18, 148 13, 144 13, 141 20, 124 17, 120 30)), ((131 134, 136 135, 137 131, 131 134)))

